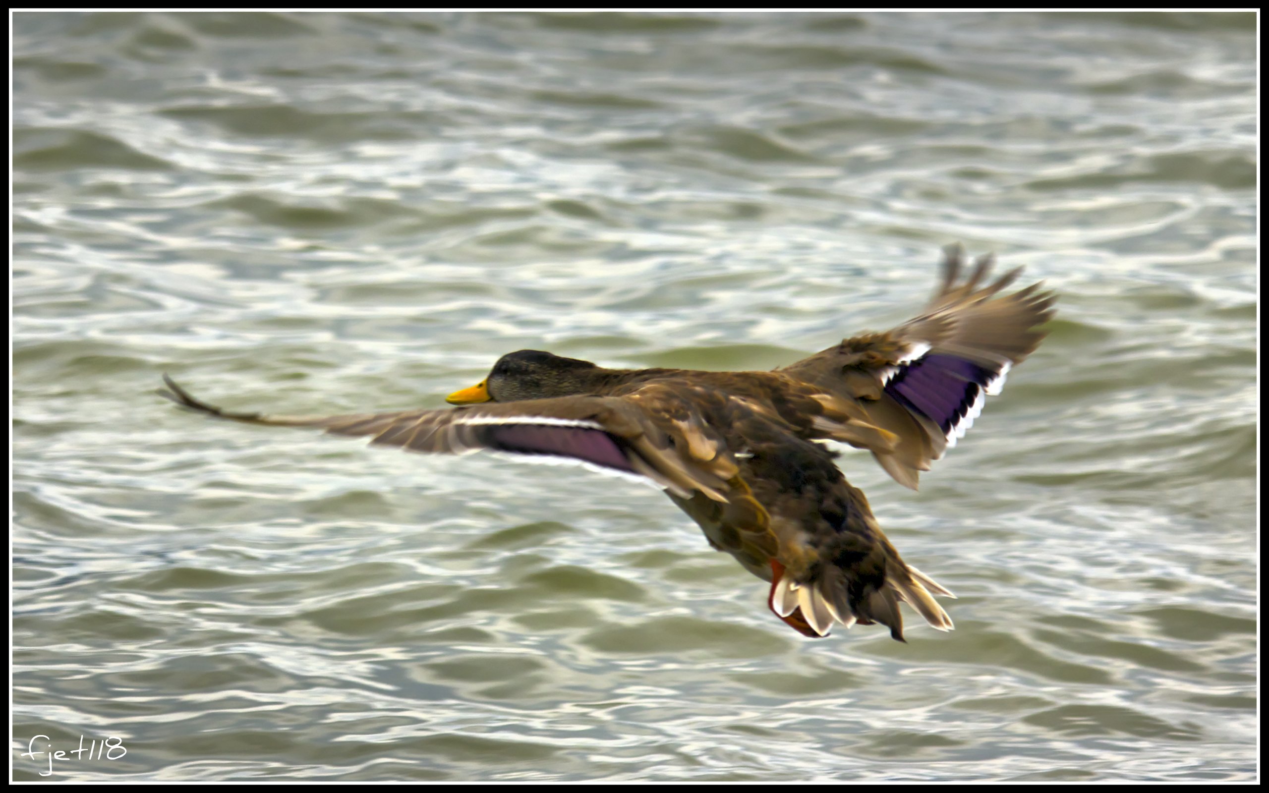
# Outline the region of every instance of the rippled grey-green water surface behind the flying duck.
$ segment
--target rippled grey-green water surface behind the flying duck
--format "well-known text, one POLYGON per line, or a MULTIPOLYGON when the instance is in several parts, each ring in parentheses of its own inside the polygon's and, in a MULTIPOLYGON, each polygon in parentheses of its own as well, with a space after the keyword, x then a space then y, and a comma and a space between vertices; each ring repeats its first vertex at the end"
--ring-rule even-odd
POLYGON ((16 778, 1255 778, 1254 16, 14 28, 16 778), (843 453, 961 595, 907 645, 801 638, 636 483, 152 393, 769 368, 958 240, 1060 315, 919 494, 843 453))

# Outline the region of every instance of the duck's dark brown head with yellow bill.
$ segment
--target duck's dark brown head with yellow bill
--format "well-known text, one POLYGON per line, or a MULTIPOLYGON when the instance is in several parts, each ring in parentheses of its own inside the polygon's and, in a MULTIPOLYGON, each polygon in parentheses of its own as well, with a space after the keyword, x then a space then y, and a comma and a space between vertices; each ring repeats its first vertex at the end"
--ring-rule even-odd
POLYGON ((450 405, 518 402, 589 393, 602 369, 589 360, 561 358, 542 350, 518 350, 497 359, 489 377, 445 397, 450 405))

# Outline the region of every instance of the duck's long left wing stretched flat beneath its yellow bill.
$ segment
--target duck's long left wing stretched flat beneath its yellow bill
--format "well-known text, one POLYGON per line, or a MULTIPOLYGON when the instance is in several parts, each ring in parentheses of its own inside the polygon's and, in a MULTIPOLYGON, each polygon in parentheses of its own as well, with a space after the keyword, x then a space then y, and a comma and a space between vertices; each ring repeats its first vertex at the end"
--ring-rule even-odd
POLYGON ((666 390, 621 397, 575 396, 490 402, 448 410, 407 410, 338 416, 280 416, 208 405, 164 376, 159 393, 217 419, 268 426, 311 426, 336 435, 369 435, 372 444, 410 452, 463 454, 481 449, 563 458, 603 471, 646 477, 680 497, 699 491, 727 501, 735 458, 722 438, 690 407, 664 405, 666 390), (687 412, 688 421, 654 421, 654 411, 687 412))

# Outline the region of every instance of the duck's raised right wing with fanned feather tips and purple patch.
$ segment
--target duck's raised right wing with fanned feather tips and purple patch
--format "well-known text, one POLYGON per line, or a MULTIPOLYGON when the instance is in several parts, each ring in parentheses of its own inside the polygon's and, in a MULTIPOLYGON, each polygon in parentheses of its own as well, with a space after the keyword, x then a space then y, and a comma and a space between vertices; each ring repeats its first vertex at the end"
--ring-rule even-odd
POLYGON ((857 445, 914 490, 919 472, 964 436, 1009 369, 1039 345, 1046 332, 1038 326, 1052 318, 1056 299, 1039 283, 1001 296, 1022 268, 989 283, 990 255, 980 256, 961 282, 962 249, 944 254, 943 282, 924 313, 780 369, 844 400, 844 412, 862 411, 868 423, 897 435, 887 447, 857 445))

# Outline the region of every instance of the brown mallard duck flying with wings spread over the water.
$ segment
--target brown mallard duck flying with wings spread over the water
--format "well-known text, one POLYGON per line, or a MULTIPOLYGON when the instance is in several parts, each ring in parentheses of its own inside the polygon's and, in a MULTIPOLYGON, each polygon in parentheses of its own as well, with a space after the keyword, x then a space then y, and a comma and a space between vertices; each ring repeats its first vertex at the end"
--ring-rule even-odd
POLYGON ((448 397, 458 407, 339 416, 236 412, 165 397, 218 419, 371 435, 412 452, 480 449, 566 458, 662 488, 709 544, 770 582, 772 612, 807 637, 881 623, 904 639, 900 601, 939 631, 952 593, 907 565, 821 440, 867 449, 900 485, 954 447, 1044 338, 1055 296, 1000 294, 991 256, 962 280, 959 249, 925 311, 886 332, 843 340, 772 372, 608 369, 541 350, 503 355, 448 397))

